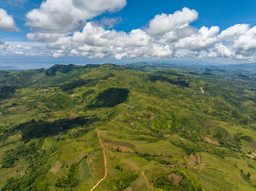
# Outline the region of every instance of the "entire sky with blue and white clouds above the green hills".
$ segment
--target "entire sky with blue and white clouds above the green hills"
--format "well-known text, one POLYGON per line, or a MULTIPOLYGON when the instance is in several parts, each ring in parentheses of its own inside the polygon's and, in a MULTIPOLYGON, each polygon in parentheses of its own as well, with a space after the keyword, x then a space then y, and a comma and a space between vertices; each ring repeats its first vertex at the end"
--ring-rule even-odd
POLYGON ((256 60, 254 0, 42 2, 0 1, 0 64, 20 56, 53 63, 256 60))

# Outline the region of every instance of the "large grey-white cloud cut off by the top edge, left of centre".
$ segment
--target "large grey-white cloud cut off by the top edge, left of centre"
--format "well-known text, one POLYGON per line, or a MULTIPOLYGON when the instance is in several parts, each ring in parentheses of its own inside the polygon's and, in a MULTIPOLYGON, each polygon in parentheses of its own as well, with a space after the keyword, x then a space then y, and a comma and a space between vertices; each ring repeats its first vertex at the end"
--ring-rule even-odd
POLYGON ((83 28, 87 20, 125 5, 126 0, 46 0, 27 13, 26 26, 40 32, 72 32, 83 28))

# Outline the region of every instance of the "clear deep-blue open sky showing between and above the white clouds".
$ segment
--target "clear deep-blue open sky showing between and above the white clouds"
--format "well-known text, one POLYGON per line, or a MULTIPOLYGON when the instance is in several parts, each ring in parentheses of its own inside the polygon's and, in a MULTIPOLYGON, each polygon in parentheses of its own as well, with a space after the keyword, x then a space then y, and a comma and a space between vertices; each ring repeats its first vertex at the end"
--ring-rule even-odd
MULTIPOLYGON (((38 8, 42 0, 27 1, 20 6, 13 6, 7 0, 0 2, 0 8, 6 9, 7 12, 14 17, 20 32, 4 32, 0 31, 8 41, 26 41, 26 33, 29 27, 24 26, 27 12, 31 9, 38 8)), ((246 0, 246 3, 238 0, 128 0, 127 6, 119 12, 102 14, 96 17, 100 20, 102 17, 122 17, 124 22, 118 24, 115 28, 118 31, 129 32, 133 28, 141 28, 146 26, 148 20, 154 15, 162 12, 170 14, 176 10, 188 7, 196 9, 199 12, 199 19, 192 26, 219 26, 221 30, 233 26, 238 23, 249 23, 256 26, 256 1, 246 0)))

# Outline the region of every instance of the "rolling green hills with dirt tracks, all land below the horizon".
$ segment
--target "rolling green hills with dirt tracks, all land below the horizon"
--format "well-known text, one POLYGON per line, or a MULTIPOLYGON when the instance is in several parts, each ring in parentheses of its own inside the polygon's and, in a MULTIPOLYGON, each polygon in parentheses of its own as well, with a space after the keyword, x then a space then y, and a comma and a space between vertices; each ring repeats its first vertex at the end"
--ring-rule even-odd
POLYGON ((256 190, 255 90, 167 64, 0 71, 0 189, 256 190))

